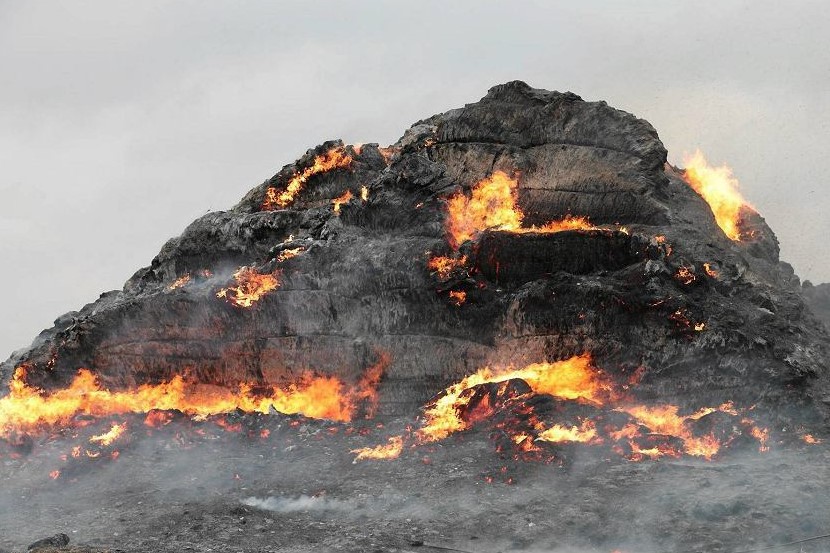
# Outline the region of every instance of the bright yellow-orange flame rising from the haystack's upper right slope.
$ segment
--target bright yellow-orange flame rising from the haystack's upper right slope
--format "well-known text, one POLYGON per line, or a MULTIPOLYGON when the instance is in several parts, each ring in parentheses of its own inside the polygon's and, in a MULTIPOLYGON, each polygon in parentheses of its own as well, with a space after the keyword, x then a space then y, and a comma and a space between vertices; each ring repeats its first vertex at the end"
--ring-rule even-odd
POLYGON ((709 165, 700 150, 684 159, 689 186, 709 204, 715 221, 731 240, 744 238, 741 221, 745 210, 754 211, 738 191, 738 179, 726 165, 709 165))

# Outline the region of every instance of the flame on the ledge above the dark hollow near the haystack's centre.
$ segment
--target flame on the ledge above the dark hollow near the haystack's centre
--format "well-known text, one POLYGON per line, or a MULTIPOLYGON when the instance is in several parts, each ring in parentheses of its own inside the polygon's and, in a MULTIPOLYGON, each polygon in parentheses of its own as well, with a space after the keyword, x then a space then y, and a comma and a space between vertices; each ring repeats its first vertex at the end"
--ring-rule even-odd
POLYGON ((510 232, 561 232, 565 230, 596 230, 587 217, 565 217, 541 227, 524 227, 524 213, 519 208, 519 181, 504 171, 496 171, 479 181, 467 197, 463 192, 447 201, 447 233, 457 248, 464 241, 487 229, 510 232))

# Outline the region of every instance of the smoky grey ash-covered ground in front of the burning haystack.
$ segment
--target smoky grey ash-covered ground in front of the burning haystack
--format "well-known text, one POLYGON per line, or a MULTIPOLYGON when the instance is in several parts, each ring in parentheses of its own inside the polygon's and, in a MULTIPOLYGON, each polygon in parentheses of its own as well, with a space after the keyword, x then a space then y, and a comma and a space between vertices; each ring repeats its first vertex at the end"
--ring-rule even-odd
POLYGON ((63 532, 92 551, 737 551, 818 535, 830 520, 823 444, 642 463, 565 446, 540 463, 474 430, 353 463, 349 449, 411 421, 386 422, 364 436, 289 417, 249 421, 253 436, 174 422, 134 433, 115 461, 74 465, 59 460, 71 440, 39 444, 4 463, 0 547, 63 532))

